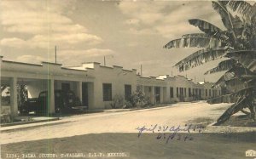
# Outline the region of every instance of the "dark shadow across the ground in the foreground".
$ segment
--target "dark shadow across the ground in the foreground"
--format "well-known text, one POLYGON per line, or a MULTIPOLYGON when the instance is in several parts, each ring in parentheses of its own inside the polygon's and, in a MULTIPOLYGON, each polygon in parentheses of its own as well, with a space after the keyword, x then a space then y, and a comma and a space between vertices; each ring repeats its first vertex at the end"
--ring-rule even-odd
MULTIPOLYGON (((170 134, 170 133, 169 133, 170 134)), ((108 153, 128 152, 129 158, 189 158, 189 159, 242 159, 246 150, 255 149, 256 132, 253 133, 180 133, 168 139, 158 133, 99 133, 61 139, 43 139, 2 145, 2 158, 6 154, 55 153, 108 153), (189 136, 185 140, 185 137, 189 136), (158 138, 158 139, 157 139, 158 138), (180 139, 178 139, 180 138, 180 139)), ((93 157, 103 158, 103 157, 93 157)), ((112 158, 112 157, 108 157, 112 158)), ((124 157, 113 157, 124 158, 124 157)))

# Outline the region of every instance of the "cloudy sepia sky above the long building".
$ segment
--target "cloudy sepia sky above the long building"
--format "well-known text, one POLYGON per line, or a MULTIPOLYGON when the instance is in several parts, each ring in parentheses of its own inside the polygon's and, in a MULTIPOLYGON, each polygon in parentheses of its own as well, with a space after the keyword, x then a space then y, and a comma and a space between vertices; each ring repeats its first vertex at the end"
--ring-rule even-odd
POLYGON ((63 66, 100 62, 137 69, 143 76, 183 75, 216 82, 220 73, 203 73, 209 62, 189 71, 173 67, 198 48, 163 46, 183 34, 201 32, 188 20, 207 20, 224 29, 209 1, 0 1, 0 54, 3 60, 63 66))

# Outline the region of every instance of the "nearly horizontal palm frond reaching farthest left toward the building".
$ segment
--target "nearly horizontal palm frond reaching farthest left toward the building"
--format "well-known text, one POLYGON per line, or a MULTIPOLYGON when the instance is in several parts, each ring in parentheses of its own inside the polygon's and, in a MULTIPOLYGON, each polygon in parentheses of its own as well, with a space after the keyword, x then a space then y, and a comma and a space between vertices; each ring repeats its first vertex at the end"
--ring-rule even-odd
POLYGON ((211 38, 207 34, 194 33, 183 35, 167 43, 164 48, 207 48, 211 38))

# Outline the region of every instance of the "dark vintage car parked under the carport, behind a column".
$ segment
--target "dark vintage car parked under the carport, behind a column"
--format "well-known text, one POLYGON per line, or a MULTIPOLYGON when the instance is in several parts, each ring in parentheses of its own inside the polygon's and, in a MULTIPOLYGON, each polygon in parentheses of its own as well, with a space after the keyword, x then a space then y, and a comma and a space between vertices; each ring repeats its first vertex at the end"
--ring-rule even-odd
MULTIPOLYGON (((46 113, 49 111, 48 102, 48 91, 43 91, 38 98, 27 99, 23 105, 20 105, 19 111, 20 113, 29 113, 30 111, 46 113)), ((83 108, 79 97, 73 91, 55 90, 55 112, 68 112, 83 108)))

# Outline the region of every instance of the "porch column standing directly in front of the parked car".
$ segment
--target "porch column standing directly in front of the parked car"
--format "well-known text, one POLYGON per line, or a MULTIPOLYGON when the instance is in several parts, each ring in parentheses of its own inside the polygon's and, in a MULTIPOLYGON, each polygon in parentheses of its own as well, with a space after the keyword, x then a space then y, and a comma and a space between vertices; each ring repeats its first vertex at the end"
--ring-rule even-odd
POLYGON ((49 114, 55 113, 55 80, 48 80, 48 112, 49 114))

